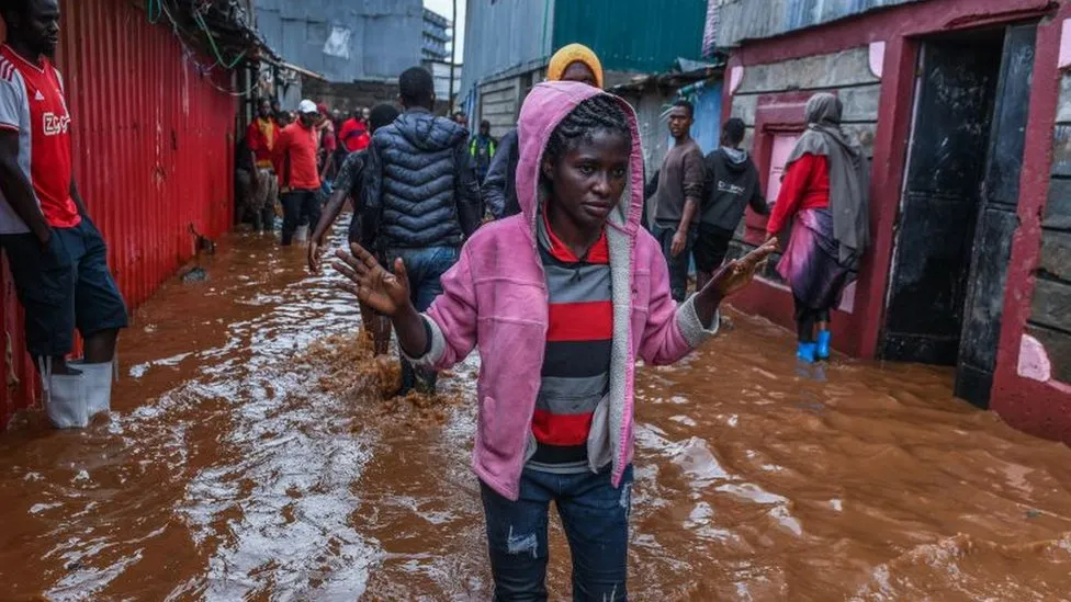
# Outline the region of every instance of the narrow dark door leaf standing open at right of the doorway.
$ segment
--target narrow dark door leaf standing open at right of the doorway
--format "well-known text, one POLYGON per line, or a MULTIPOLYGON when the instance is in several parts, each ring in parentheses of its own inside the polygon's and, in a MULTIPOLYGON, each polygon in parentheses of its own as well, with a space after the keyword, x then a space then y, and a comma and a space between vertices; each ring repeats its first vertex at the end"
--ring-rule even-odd
POLYGON ((1001 339, 1004 288, 1018 226, 1019 174, 1034 72, 1037 25, 1007 29, 978 215, 967 308, 956 370, 956 396, 989 407, 1001 339))

